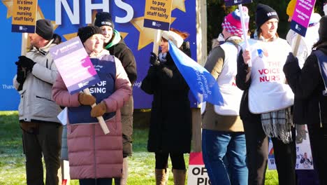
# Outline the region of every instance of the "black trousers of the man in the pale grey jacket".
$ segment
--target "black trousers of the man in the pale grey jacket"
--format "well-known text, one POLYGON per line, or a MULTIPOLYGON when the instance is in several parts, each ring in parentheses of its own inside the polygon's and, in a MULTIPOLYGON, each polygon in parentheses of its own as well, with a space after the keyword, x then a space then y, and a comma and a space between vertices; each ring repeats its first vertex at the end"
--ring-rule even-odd
POLYGON ((44 157, 45 184, 58 184, 62 126, 59 123, 22 123, 23 149, 26 157, 27 184, 43 185, 44 157), (24 125, 26 124, 26 125, 24 125), (30 125, 33 125, 31 127, 30 125))

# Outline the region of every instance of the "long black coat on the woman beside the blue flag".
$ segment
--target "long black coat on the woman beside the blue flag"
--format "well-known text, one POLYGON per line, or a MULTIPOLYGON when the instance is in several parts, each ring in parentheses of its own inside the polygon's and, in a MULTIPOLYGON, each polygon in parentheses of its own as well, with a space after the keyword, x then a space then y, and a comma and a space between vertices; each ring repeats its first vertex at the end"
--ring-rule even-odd
POLYGON ((151 152, 189 153, 191 108, 189 86, 169 53, 167 61, 150 67, 141 89, 153 95, 147 149, 151 152))

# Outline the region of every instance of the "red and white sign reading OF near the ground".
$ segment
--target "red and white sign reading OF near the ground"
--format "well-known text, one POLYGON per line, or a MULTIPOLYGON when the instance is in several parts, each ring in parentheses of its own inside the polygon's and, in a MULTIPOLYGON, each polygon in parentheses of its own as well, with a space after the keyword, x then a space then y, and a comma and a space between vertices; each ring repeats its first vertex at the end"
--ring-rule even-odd
POLYGON ((187 184, 209 185, 211 181, 208 177, 207 169, 203 163, 202 152, 191 152, 189 154, 189 174, 187 184))

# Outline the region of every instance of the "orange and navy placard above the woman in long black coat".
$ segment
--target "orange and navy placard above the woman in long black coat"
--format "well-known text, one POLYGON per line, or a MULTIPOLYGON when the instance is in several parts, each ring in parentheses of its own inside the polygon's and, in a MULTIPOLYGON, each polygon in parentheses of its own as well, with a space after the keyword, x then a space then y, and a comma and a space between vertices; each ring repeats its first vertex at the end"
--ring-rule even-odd
POLYGON ((173 0, 146 0, 143 27, 169 30, 172 3, 173 0))

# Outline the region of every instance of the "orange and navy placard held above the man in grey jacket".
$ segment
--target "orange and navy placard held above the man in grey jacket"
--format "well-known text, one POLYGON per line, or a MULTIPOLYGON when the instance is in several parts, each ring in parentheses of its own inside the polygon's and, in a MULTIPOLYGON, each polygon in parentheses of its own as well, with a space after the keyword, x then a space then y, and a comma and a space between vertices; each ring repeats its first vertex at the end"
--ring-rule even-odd
POLYGON ((34 33, 37 6, 37 0, 13 0, 11 32, 34 33))

